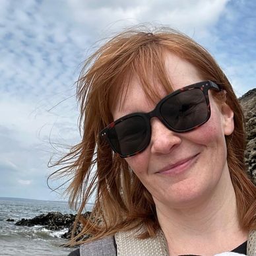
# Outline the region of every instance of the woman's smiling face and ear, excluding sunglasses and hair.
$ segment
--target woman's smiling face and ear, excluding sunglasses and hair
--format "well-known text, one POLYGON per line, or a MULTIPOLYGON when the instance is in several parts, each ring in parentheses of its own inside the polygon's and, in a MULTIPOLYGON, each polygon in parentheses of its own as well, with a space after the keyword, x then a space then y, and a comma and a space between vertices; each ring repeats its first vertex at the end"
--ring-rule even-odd
MULTIPOLYGON (((172 53, 166 53, 166 69, 174 90, 204 80, 193 65, 172 53)), ((166 96, 160 84, 156 90, 162 97, 166 96)), ((151 193, 156 207, 193 207, 211 197, 214 191, 224 190, 230 179, 224 135, 230 135, 234 129, 233 112, 226 104, 218 106, 210 90, 209 98, 211 116, 207 123, 193 131, 175 133, 153 117, 148 147, 125 158, 151 193)), ((133 112, 150 112, 154 107, 134 77, 126 96, 119 97, 113 117, 118 119, 133 112)))

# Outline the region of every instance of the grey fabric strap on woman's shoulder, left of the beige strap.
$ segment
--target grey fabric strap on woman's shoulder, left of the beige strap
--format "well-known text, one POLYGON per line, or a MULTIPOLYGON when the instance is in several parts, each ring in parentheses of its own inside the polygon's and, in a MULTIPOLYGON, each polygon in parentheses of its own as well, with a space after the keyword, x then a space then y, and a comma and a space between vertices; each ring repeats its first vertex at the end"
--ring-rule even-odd
MULTIPOLYGON (((80 256, 116 256, 117 249, 113 236, 80 245, 80 256)), ((72 255, 71 255, 72 256, 72 255)), ((74 255, 75 256, 75 255, 74 255)))

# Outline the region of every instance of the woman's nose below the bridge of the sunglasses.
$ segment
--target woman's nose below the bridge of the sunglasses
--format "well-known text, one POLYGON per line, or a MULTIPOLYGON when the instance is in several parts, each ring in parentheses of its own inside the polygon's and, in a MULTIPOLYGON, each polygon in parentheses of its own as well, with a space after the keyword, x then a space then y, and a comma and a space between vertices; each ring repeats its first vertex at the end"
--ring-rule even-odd
POLYGON ((170 131, 158 118, 151 119, 151 152, 154 154, 169 154, 181 143, 178 133, 170 131))

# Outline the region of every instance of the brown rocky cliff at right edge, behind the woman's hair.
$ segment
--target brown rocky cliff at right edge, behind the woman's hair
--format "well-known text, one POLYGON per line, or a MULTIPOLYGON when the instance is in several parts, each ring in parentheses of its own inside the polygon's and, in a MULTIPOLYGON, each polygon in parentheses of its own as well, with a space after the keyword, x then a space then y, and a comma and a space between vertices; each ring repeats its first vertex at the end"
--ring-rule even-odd
POLYGON ((239 100, 245 115, 245 164, 249 176, 256 184, 256 88, 246 92, 239 100))

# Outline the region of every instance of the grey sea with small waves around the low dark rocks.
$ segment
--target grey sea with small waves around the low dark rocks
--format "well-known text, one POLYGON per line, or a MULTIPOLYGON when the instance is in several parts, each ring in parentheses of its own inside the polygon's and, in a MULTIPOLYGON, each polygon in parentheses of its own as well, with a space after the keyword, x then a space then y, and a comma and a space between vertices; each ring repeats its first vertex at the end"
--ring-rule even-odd
MULTIPOLYGON (((91 210, 87 205, 86 210, 91 210)), ((64 247, 61 235, 67 229, 53 231, 44 226, 15 226, 22 218, 34 218, 48 212, 73 213, 67 202, 0 197, 0 255, 68 255, 75 248, 64 247), (8 222, 7 219, 13 219, 8 222)))

